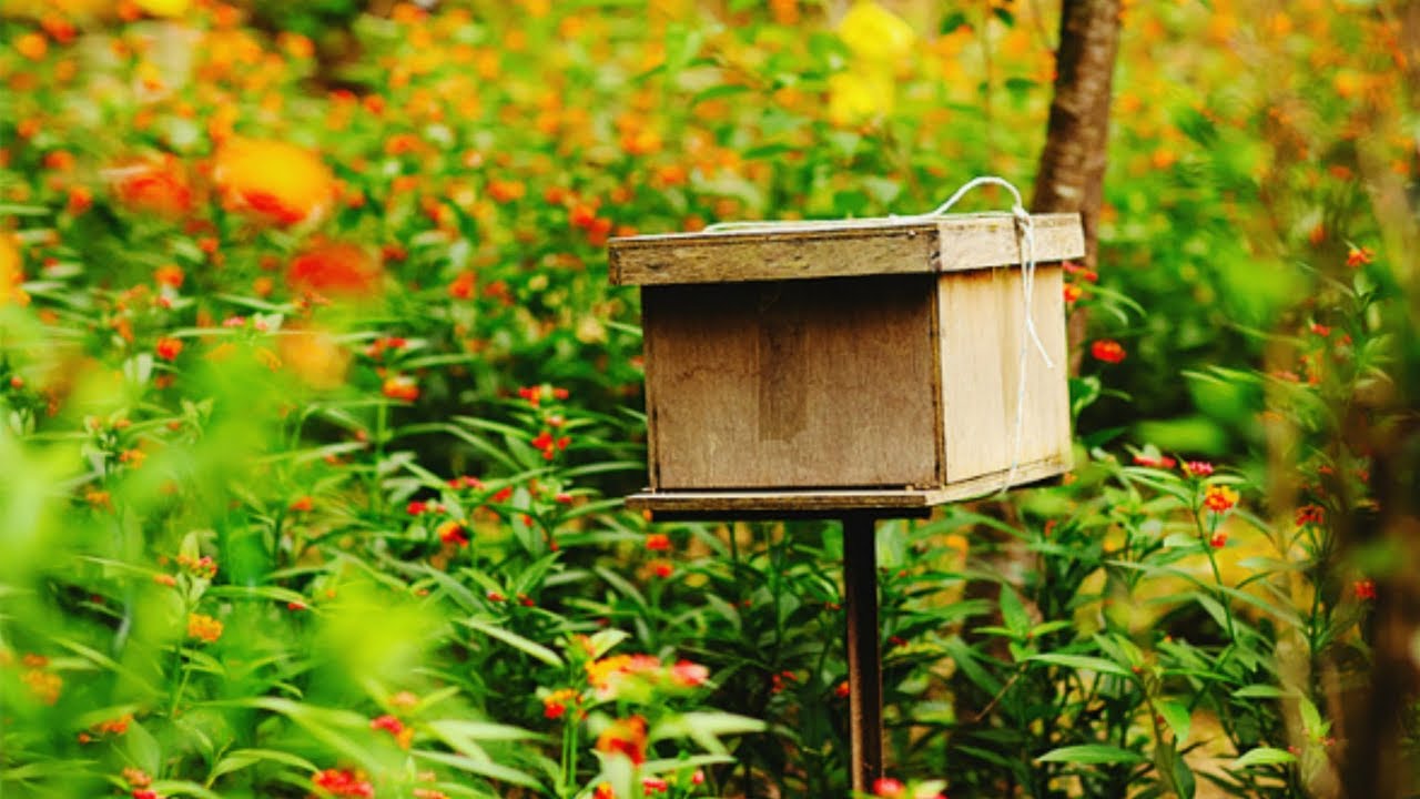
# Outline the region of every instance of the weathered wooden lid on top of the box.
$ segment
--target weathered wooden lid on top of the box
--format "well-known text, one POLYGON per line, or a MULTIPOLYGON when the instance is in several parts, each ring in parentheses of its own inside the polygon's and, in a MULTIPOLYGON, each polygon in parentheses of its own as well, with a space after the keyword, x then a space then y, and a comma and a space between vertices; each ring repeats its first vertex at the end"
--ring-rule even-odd
MULTIPOLYGON (((1078 213, 1037 213, 1031 222, 1037 262, 1083 257, 1078 213)), ((611 280, 625 286, 943 273, 1022 257, 1010 213, 737 223, 609 243, 611 280)))

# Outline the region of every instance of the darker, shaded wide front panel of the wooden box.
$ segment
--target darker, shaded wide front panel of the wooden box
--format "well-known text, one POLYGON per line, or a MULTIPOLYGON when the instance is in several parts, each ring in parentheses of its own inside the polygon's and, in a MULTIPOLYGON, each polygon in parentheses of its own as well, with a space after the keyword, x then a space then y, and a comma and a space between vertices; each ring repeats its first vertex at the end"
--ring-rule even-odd
POLYGON ((937 485, 933 283, 646 287, 656 486, 937 485))

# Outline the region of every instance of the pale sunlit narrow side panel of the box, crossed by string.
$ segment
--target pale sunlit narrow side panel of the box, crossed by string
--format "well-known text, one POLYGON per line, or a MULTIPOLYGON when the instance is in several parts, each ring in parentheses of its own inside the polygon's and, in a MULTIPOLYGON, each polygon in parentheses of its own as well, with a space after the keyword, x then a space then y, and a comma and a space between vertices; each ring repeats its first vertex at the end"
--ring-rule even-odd
POLYGON ((1031 300, 1031 316, 1054 368, 1028 338, 1021 280, 1020 267, 973 270, 940 279, 941 407, 949 483, 993 472, 1004 475, 1012 458, 1018 466, 1058 463, 1061 471, 1069 468, 1061 269, 1058 264, 1037 269, 1031 300), (1027 347, 1025 405, 1017 442, 1022 344, 1027 347))

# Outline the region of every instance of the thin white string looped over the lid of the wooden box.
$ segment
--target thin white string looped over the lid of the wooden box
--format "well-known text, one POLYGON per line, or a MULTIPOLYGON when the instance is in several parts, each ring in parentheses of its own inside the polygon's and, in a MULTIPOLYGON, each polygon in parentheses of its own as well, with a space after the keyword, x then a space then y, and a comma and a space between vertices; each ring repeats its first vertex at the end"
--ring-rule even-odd
MULTIPOLYGON (((951 206, 967 195, 971 189, 978 186, 994 185, 1001 186, 1011 192, 1011 216, 1015 218, 1015 229, 1020 236, 1018 247, 1021 250, 1021 311, 1025 316, 1025 336, 1021 337, 1021 360, 1017 368, 1018 381, 1015 387, 1015 425, 1011 434, 1011 468, 1005 473, 1005 481, 1001 483, 1000 493, 1004 495, 1011 483, 1015 482, 1015 475, 1021 466, 1021 445, 1025 432, 1025 367, 1030 355, 1030 343, 1035 343, 1035 350, 1041 354, 1041 361, 1045 363, 1045 368, 1054 370, 1055 361, 1051 360, 1049 353, 1045 350, 1045 343, 1041 341, 1041 334, 1035 328, 1035 314, 1031 311, 1031 300, 1035 294, 1035 223, 1031 220, 1030 212, 1025 210, 1025 202, 1021 199, 1021 192, 1017 191, 1010 181, 1004 178, 997 178, 995 175, 981 175, 980 178, 973 178, 961 185, 960 189, 953 192, 946 202, 932 209, 927 213, 917 213, 909 216, 888 216, 883 219, 865 219, 863 225, 873 223, 899 223, 902 220, 910 219, 933 219, 937 216, 944 216, 951 206)), ((763 227, 794 227, 794 229, 815 229, 825 226, 842 225, 841 219, 794 219, 794 220, 774 220, 774 222, 720 222, 706 227, 706 232, 717 230, 755 230, 763 227)))

